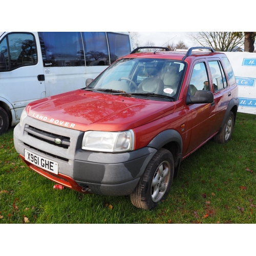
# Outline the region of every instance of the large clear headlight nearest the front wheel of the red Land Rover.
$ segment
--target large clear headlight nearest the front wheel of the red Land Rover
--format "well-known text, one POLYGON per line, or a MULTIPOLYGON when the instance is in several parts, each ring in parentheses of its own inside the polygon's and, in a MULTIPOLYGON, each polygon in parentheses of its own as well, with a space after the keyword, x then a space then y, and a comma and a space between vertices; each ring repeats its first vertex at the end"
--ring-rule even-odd
POLYGON ((88 131, 83 135, 82 149, 101 152, 125 152, 134 150, 134 132, 88 131))

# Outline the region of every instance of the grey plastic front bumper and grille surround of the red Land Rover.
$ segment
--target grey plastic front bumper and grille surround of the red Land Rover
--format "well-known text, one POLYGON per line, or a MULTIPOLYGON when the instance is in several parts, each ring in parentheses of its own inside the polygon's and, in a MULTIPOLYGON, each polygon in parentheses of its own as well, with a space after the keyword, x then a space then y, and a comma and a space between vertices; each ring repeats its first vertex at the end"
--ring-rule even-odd
POLYGON ((26 117, 23 126, 17 124, 14 129, 14 146, 25 163, 46 178, 81 193, 108 196, 130 195, 148 162, 157 152, 151 147, 117 154, 83 151, 82 137, 83 132, 26 117), (70 139, 70 145, 63 148, 32 136, 24 130, 28 126, 47 134, 65 136, 70 139), (58 174, 51 174, 26 161, 25 149, 58 162, 58 174))

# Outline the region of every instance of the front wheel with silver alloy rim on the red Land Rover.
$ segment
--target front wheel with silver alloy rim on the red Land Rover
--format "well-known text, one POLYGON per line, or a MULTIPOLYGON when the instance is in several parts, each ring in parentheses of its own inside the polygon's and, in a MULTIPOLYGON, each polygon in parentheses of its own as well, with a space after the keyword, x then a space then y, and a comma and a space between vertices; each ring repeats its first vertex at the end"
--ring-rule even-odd
POLYGON ((161 148, 148 163, 133 193, 132 203, 142 209, 153 209, 167 195, 174 177, 172 153, 161 148))

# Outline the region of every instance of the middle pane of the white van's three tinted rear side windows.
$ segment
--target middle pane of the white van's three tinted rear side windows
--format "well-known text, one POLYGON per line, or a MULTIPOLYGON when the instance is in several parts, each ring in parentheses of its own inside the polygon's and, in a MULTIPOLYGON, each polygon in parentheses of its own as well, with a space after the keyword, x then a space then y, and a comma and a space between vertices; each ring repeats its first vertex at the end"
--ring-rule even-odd
POLYGON ((105 32, 82 32, 86 66, 109 66, 109 49, 105 32))

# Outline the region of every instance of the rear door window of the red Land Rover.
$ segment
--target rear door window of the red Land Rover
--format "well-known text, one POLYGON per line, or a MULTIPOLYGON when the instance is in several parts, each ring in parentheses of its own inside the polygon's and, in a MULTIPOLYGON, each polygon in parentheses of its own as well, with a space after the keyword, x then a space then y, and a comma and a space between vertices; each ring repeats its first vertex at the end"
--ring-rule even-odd
POLYGON ((227 87, 227 80, 221 66, 220 61, 209 61, 212 82, 214 83, 214 91, 218 91, 227 87))

